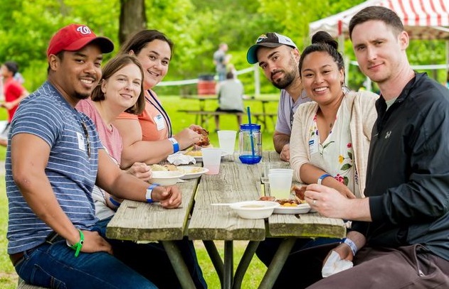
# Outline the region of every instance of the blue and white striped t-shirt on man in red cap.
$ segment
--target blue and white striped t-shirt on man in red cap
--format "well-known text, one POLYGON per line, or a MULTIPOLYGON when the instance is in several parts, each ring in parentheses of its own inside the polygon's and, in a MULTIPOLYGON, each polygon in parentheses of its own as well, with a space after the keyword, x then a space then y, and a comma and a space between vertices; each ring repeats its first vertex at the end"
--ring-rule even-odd
MULTIPOLYGON (((73 109, 49 82, 45 82, 23 99, 17 109, 9 139, 18 133, 31 133, 48 143, 51 151, 46 175, 60 207, 78 229, 92 227, 97 217, 91 192, 97 176, 98 149, 102 148, 93 121, 73 109), (88 138, 85 138, 86 133, 88 138)), ((5 167, 9 202, 8 253, 17 253, 42 244, 52 229, 33 213, 14 182, 10 145, 5 167)))

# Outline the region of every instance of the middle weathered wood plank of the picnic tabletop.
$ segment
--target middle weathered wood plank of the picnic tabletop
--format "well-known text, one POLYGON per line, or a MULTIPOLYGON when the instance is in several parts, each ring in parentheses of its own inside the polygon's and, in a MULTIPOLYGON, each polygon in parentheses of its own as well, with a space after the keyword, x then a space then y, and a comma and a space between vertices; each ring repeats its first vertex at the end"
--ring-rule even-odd
POLYGON ((265 239, 263 219, 241 219, 228 207, 211 206, 211 203, 257 200, 262 190, 259 171, 259 165, 242 164, 235 153, 221 160, 218 175, 203 175, 196 192, 189 239, 265 239))

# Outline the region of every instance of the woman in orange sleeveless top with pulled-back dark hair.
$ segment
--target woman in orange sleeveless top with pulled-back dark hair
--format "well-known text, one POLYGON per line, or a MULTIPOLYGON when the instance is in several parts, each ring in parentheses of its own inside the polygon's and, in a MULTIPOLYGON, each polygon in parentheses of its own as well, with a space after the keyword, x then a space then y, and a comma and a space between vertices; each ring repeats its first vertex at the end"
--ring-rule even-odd
POLYGON ((171 120, 152 88, 167 75, 173 43, 163 33, 144 30, 122 45, 120 53, 136 55, 144 68, 145 110, 139 116, 120 114, 114 125, 123 139, 122 168, 134 162, 159 163, 171 153, 189 148, 200 140, 190 126, 172 134, 171 120))

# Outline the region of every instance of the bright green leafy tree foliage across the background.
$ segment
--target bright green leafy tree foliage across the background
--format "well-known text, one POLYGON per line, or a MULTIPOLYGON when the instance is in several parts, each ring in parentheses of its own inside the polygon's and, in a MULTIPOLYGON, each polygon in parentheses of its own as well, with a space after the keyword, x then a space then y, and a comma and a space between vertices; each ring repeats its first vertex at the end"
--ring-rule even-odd
MULTIPOLYGON (((361 2, 363 0, 1 0, 0 62, 17 61, 26 78, 26 87, 33 90, 46 79, 46 48, 58 28, 68 23, 85 23, 98 35, 111 38, 117 51, 120 42, 146 21, 146 28, 162 31, 175 43, 165 80, 186 80, 214 73, 212 55, 221 42, 228 43, 233 65, 243 70, 250 67, 246 52, 260 34, 269 31, 285 34, 302 50, 310 44, 310 22, 361 2)), ((444 63, 444 49, 443 41, 413 41, 408 55, 416 65, 438 64, 444 63)), ((114 54, 105 55, 105 60, 114 54)), ((349 40, 344 43, 344 55, 355 60, 349 40)), ((348 73, 351 87, 359 87, 364 81, 356 65, 349 65, 348 73)), ((439 72, 438 77, 444 77, 440 80, 445 79, 444 73, 439 72)), ((245 91, 251 93, 253 75, 248 73, 239 78, 245 84, 245 91)), ((260 80, 262 92, 278 92, 265 77, 261 76, 260 80)), ((180 87, 157 89, 159 93, 177 94, 180 87)), ((181 87, 181 92, 196 93, 196 87, 186 85, 181 87)))

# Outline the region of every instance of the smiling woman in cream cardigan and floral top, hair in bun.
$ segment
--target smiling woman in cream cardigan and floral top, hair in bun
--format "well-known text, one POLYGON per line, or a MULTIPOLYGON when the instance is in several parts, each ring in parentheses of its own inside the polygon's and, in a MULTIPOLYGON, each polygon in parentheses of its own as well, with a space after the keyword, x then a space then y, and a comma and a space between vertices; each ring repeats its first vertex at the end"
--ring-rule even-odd
POLYGON ((377 94, 349 92, 338 44, 318 32, 301 55, 300 76, 313 100, 297 109, 290 136, 295 178, 321 183, 347 197, 364 197, 366 161, 377 94))

